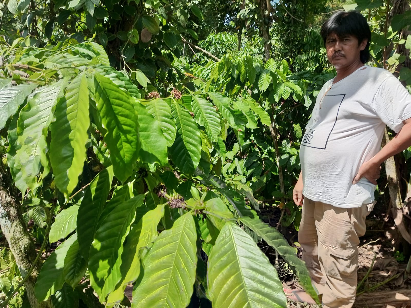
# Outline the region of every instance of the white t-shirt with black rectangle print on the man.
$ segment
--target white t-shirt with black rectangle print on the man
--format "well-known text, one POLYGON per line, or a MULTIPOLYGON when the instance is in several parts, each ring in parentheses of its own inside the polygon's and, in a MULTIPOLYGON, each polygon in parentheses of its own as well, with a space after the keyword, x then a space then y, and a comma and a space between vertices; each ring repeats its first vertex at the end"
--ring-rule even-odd
POLYGON ((397 133, 410 117, 411 96, 384 69, 363 66, 337 83, 329 80, 302 137, 303 195, 336 207, 372 203, 376 186, 365 177, 352 181, 381 149, 386 125, 397 133))

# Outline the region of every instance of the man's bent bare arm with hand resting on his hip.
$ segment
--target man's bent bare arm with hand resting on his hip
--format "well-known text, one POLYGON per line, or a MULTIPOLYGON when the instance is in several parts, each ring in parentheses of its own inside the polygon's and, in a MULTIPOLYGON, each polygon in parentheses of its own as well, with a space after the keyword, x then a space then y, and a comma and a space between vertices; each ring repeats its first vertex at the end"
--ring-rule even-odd
POLYGON ((405 120, 404 124, 397 135, 380 152, 361 165, 356 177, 354 177, 353 184, 356 184, 362 177, 365 177, 373 184, 377 184, 376 179, 379 177, 381 163, 389 157, 411 147, 411 118, 405 120))

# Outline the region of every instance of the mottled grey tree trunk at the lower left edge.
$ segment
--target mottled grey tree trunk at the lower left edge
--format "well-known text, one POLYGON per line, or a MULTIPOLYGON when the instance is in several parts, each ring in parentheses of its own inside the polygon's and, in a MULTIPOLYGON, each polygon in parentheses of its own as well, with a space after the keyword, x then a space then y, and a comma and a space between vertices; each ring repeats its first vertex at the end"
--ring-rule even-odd
MULTIPOLYGON (((13 182, 4 165, 0 165, 0 226, 9 243, 20 273, 25 277, 35 260, 34 243, 23 221, 20 204, 13 191, 13 182)), ((50 308, 50 301, 38 303, 34 295, 34 285, 39 274, 39 267, 31 272, 25 283, 26 293, 32 308, 50 308)))

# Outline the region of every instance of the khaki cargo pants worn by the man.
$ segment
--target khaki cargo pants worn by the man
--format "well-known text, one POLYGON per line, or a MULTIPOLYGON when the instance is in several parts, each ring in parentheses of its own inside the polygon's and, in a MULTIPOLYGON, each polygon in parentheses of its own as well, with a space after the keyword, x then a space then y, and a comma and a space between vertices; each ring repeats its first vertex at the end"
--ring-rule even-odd
POLYGON ((351 308, 356 298, 357 262, 372 204, 339 208, 304 198, 298 242, 323 307, 351 308))

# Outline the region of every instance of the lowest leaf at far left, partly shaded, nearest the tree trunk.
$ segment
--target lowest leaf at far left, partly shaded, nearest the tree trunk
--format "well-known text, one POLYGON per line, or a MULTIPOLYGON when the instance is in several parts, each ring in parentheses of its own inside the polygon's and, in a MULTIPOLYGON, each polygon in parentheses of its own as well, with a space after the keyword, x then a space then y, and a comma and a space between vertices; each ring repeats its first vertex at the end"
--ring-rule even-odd
POLYGON ((70 246, 77 239, 77 234, 73 234, 47 258, 44 262, 37 282, 34 287, 35 296, 38 301, 45 301, 50 295, 55 294, 64 284, 64 260, 70 246))

